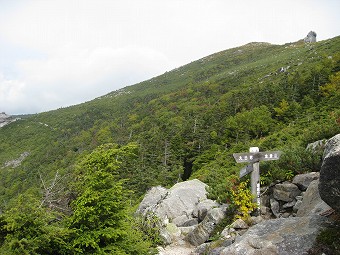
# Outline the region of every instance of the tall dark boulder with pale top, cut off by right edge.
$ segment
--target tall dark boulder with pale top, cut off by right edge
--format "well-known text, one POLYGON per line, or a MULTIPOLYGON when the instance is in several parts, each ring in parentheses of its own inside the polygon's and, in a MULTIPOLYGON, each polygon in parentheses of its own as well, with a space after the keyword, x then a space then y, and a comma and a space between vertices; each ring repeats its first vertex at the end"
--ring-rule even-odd
POLYGON ((319 193, 323 201, 340 212, 340 134, 326 143, 320 170, 319 193))

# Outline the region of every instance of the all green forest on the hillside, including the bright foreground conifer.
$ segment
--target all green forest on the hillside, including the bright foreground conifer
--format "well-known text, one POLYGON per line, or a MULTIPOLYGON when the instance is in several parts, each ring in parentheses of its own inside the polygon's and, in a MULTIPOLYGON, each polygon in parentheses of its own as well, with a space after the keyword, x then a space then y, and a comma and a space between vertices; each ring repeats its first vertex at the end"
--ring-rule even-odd
POLYGON ((133 217, 152 186, 199 179, 230 202, 232 154, 280 150, 261 184, 319 171, 340 133, 340 37, 249 43, 0 129, 1 254, 153 254, 133 217), (25 155, 21 164, 10 162, 25 155))

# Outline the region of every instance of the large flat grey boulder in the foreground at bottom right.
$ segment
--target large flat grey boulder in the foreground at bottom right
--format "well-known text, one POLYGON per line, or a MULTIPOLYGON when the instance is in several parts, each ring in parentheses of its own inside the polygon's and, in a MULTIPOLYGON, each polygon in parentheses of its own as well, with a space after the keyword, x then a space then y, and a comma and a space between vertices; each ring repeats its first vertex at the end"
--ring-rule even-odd
MULTIPOLYGON (((218 254, 307 254, 319 231, 329 224, 326 217, 319 215, 263 221, 237 237, 232 245, 217 248, 218 254)), ((216 251, 209 254, 216 254, 216 251)))

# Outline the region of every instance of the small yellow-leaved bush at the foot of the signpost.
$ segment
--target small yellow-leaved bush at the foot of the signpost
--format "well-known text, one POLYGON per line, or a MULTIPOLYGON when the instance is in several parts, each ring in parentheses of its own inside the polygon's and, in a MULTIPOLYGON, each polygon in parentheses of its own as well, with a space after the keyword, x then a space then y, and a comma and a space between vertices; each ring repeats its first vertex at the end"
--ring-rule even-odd
POLYGON ((248 181, 241 182, 236 188, 231 189, 231 196, 237 210, 235 219, 247 221, 250 212, 257 208, 257 204, 253 203, 253 195, 248 188, 248 181))

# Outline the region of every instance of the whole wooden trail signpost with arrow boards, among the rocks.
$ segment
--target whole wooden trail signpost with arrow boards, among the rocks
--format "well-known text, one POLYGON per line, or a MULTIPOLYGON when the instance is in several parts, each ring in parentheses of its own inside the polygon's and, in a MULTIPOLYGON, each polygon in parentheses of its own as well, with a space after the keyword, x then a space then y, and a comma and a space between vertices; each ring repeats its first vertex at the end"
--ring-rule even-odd
POLYGON ((265 151, 260 152, 258 147, 250 147, 249 153, 234 153, 234 159, 237 163, 250 163, 243 167, 240 171, 240 178, 251 173, 250 185, 251 193, 254 196, 254 202, 257 203, 258 208, 261 206, 260 193, 260 161, 278 160, 281 151, 265 151))

